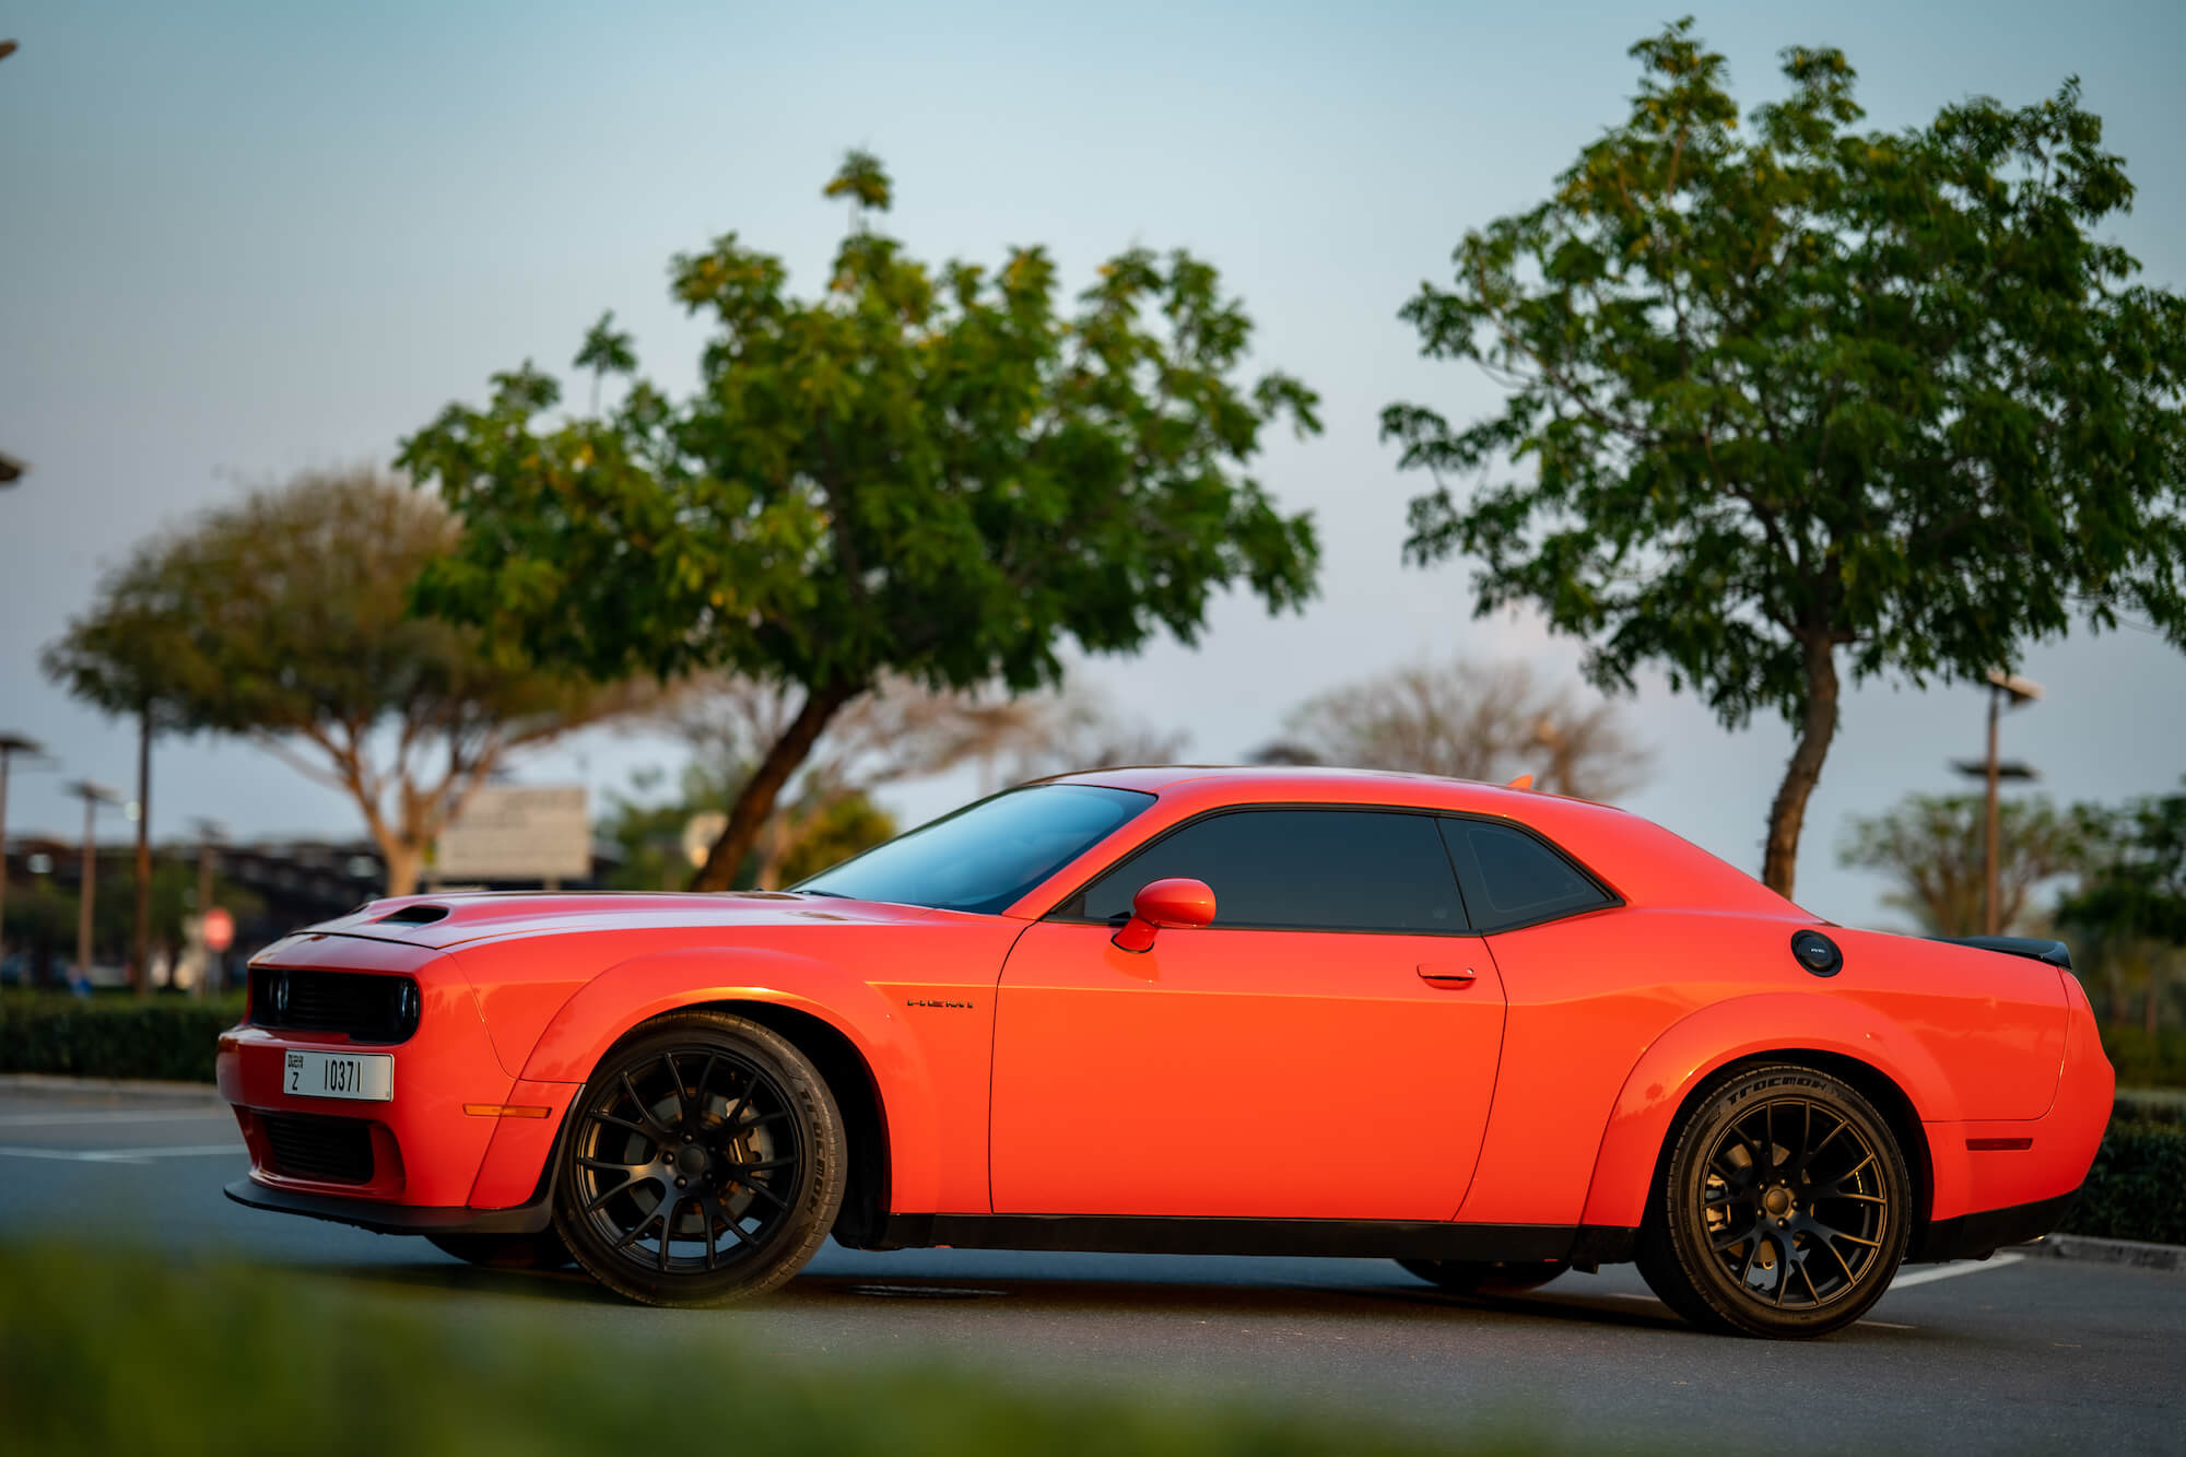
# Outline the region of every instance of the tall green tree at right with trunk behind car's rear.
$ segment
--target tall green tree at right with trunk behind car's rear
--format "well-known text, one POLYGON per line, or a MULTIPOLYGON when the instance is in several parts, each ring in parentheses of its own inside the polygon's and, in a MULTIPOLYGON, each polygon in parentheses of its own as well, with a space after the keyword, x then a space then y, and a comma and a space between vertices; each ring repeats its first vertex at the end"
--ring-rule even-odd
POLYGON ((1659 665, 1725 726, 1790 722, 1762 864, 1790 895, 1838 654, 1978 680, 2079 606, 2186 643, 2186 304, 2099 236, 2134 188, 2077 83, 1862 131, 1836 50, 1786 50, 1744 118, 1690 20, 1633 55, 1629 120, 1403 308, 1502 409, 1382 424, 1436 477, 1410 560, 1478 558, 1480 613, 1539 606, 1605 687, 1659 665))

